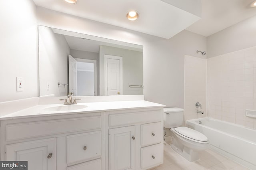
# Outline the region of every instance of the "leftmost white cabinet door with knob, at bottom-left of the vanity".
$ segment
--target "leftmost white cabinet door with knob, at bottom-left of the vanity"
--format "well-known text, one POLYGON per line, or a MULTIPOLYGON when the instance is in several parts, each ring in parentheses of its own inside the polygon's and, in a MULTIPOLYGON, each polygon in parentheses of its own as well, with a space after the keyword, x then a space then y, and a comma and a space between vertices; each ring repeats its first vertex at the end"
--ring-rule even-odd
POLYGON ((6 145, 6 160, 28 161, 28 170, 56 170, 56 139, 6 145))

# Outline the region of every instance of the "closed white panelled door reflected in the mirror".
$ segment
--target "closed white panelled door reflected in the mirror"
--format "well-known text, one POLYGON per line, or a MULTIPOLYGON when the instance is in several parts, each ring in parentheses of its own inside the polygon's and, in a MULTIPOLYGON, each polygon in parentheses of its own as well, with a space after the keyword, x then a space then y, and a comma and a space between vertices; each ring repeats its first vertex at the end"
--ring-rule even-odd
POLYGON ((105 57, 105 95, 123 94, 122 57, 104 55, 105 57))

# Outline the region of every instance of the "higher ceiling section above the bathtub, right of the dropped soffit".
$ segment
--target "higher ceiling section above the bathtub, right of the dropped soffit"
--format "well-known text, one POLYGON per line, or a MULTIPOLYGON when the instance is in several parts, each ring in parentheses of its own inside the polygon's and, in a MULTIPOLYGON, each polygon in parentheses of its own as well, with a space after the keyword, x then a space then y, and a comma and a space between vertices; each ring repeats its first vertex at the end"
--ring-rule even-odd
POLYGON ((202 0, 201 19, 186 30, 208 37, 256 15, 254 0, 202 0))

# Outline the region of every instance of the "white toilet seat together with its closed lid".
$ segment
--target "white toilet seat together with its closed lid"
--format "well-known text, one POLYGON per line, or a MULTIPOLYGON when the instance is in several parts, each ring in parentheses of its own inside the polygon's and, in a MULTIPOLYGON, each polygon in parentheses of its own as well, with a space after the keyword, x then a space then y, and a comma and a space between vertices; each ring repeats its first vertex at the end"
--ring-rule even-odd
POLYGON ((173 131, 179 136, 182 136, 183 138, 186 138, 188 140, 192 140, 194 142, 203 143, 203 144, 209 143, 208 138, 204 136, 204 134, 192 128, 177 127, 177 128, 173 128, 173 131))

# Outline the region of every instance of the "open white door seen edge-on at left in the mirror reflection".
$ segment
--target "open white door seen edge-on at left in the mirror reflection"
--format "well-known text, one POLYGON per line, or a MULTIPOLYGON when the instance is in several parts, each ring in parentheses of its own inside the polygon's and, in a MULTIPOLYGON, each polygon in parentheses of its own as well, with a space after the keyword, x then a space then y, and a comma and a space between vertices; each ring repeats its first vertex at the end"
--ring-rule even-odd
POLYGON ((77 61, 68 55, 69 92, 77 95, 77 61))

